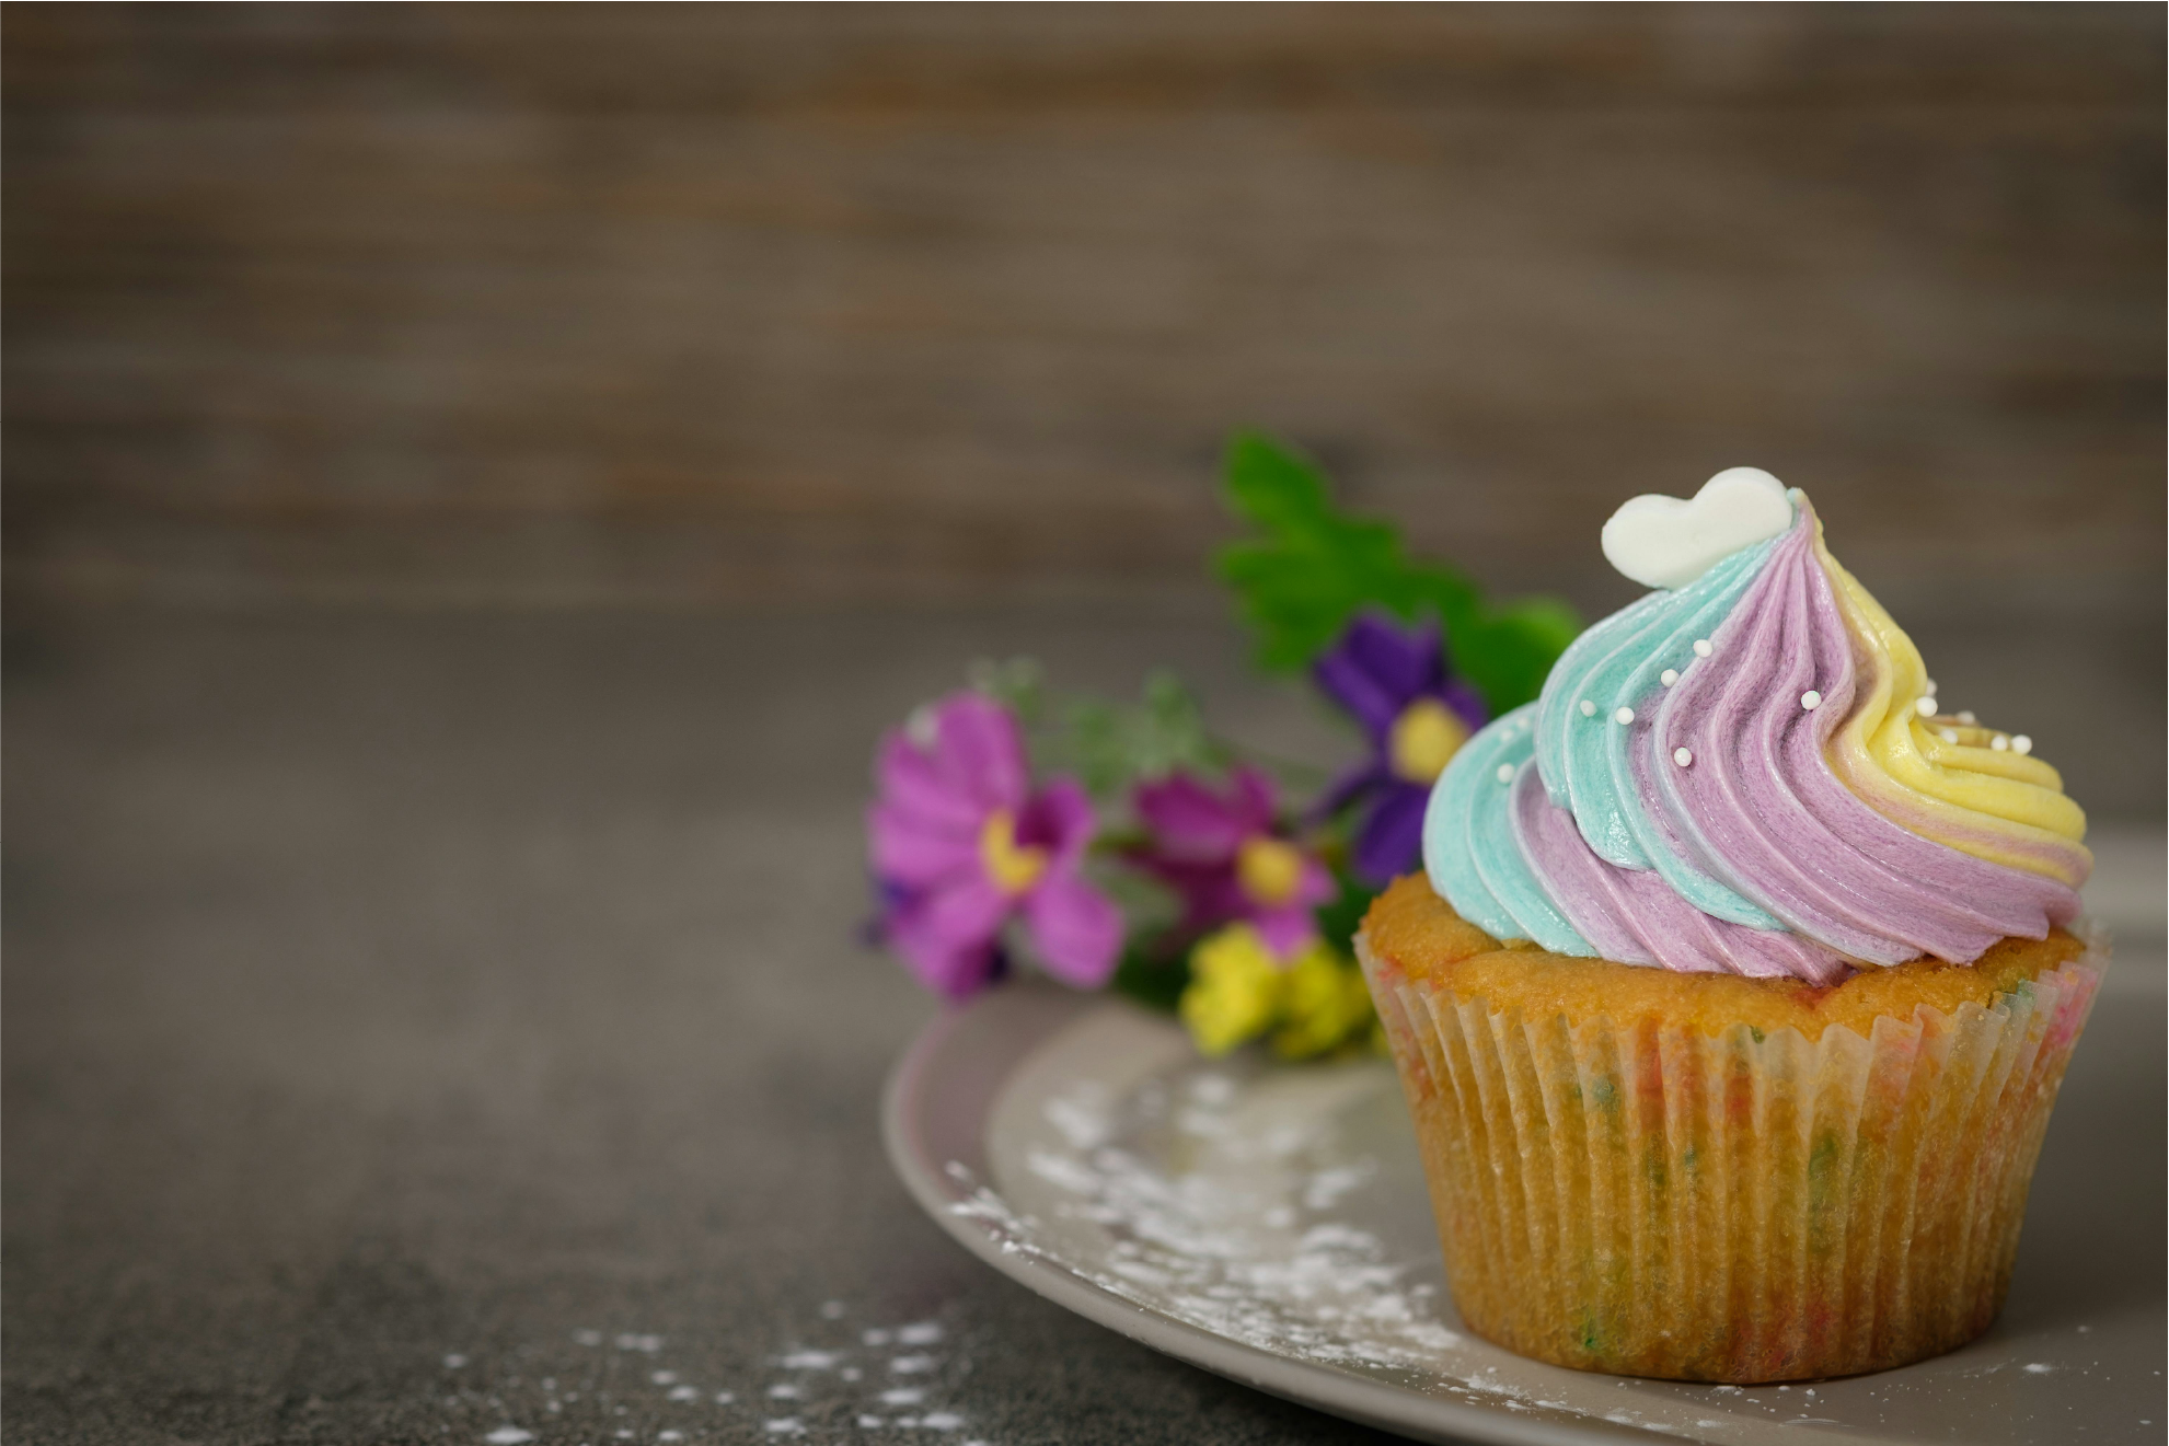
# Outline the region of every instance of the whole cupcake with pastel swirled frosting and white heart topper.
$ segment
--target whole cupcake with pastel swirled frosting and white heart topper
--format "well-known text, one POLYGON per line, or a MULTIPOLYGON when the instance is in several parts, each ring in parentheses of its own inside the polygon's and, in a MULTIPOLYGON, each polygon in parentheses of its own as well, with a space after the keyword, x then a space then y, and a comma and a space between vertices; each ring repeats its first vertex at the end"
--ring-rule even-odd
POLYGON ((1655 592, 1462 746, 1358 937, 1462 1320, 1687 1381, 1950 1351, 2106 963, 2084 815, 1768 473, 1603 544, 1655 592))

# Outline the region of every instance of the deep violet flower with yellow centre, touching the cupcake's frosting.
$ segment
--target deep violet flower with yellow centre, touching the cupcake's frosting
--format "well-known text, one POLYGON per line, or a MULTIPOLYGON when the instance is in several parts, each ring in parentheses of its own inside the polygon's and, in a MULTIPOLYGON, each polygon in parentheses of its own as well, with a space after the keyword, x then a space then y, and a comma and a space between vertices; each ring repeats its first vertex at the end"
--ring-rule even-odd
POLYGON ((1366 806, 1351 863, 1358 878, 1386 887, 1421 861, 1432 783, 1490 711, 1477 689, 1453 676, 1436 622, 1401 627, 1358 616, 1310 668, 1319 687, 1371 735, 1371 757, 1327 791, 1319 813, 1366 806))

